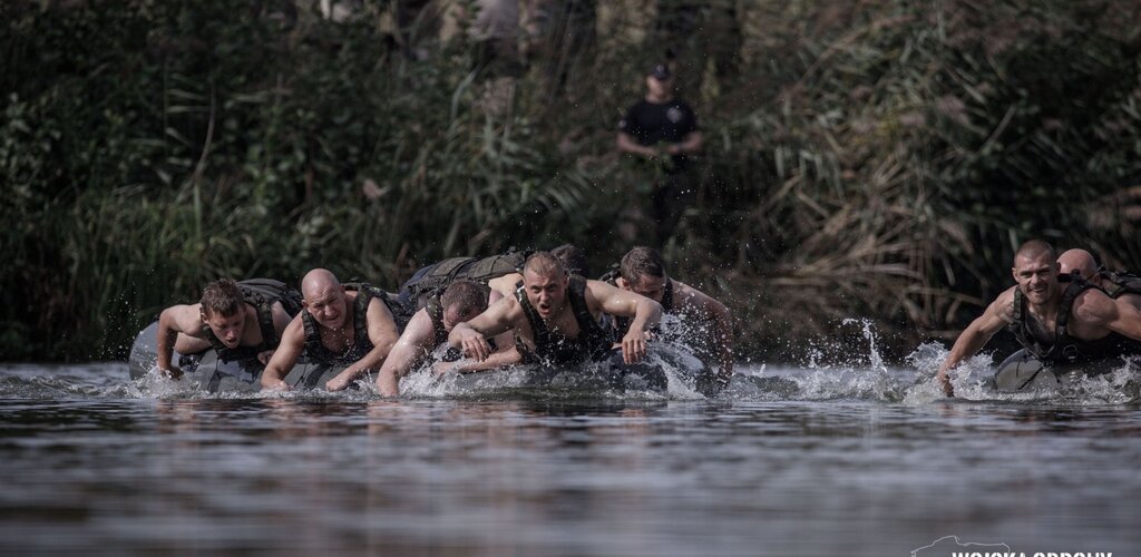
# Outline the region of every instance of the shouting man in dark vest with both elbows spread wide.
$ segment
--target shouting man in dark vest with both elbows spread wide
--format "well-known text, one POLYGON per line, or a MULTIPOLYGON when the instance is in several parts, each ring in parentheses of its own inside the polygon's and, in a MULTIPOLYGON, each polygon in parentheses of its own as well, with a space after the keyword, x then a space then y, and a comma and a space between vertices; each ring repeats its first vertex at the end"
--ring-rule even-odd
POLYGON ((555 256, 540 251, 527 258, 523 288, 476 318, 459 323, 447 340, 479 362, 492 354, 487 338, 516 333, 524 363, 574 364, 608 357, 613 336, 598 323, 607 313, 632 317, 622 338, 628 364, 646 356, 646 331, 657 325, 662 306, 633 292, 581 276, 569 276, 555 256))

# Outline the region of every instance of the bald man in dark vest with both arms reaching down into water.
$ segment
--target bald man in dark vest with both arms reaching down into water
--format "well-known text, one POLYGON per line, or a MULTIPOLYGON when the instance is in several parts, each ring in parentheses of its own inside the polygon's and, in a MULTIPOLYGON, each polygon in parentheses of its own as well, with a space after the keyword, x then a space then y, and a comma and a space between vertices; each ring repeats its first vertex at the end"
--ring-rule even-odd
POLYGON ((347 365, 325 384, 341 390, 367 371, 379 370, 400 332, 396 300, 367 284, 347 289, 326 269, 301 280, 301 313, 285 328, 281 346, 261 373, 261 387, 289 390, 283 380, 304 353, 310 362, 347 365))

